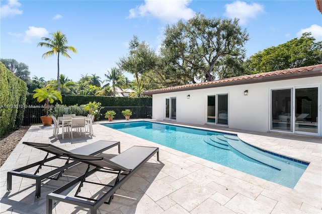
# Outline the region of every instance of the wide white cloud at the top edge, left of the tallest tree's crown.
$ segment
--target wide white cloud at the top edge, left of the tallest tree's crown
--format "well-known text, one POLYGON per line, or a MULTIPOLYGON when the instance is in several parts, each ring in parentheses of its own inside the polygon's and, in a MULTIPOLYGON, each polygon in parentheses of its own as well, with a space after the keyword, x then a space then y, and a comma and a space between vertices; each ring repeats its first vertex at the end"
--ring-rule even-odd
POLYGON ((164 22, 175 23, 180 19, 188 20, 195 12, 188 8, 191 0, 144 0, 145 4, 131 9, 127 18, 156 17, 164 22))

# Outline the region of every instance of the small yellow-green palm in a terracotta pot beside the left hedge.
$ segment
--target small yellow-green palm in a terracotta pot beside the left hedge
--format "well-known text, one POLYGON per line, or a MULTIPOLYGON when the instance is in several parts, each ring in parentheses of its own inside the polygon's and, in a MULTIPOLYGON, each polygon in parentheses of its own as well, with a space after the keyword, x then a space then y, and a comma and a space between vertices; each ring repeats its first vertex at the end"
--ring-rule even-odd
POLYGON ((51 126, 52 118, 51 116, 48 116, 49 103, 53 103, 55 100, 62 102, 61 94, 53 88, 36 88, 34 92, 36 93, 33 95, 33 98, 37 98, 38 102, 45 100, 44 111, 46 116, 40 117, 41 122, 44 126, 51 126))

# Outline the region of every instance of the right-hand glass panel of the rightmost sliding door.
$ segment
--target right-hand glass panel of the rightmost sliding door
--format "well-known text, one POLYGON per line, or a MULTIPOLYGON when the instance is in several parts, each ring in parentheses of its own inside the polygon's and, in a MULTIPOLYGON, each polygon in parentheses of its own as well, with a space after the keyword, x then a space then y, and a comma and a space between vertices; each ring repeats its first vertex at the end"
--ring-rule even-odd
POLYGON ((318 88, 295 89, 295 131, 317 133, 318 88))

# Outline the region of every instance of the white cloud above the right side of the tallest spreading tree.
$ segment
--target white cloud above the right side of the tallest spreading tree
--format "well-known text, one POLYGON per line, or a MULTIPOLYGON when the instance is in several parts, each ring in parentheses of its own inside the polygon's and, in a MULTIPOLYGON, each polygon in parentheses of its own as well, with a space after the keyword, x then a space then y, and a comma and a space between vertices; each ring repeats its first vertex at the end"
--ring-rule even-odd
POLYGON ((259 14, 264 13, 264 7, 256 3, 248 5, 246 2, 236 1, 226 4, 225 8, 225 16, 239 19, 240 25, 246 25, 250 19, 255 19, 259 14))

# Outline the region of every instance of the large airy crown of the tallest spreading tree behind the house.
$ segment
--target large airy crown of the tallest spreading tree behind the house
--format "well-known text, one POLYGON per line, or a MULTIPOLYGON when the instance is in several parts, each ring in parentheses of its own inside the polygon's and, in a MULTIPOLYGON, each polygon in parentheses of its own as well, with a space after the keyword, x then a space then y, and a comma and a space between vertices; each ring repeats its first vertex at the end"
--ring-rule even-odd
POLYGON ((165 30, 161 54, 170 68, 167 75, 172 79, 187 75, 192 82, 194 78, 214 80, 216 62, 225 56, 243 55, 248 40, 247 31, 241 30, 237 19, 206 19, 196 14, 187 22, 180 20, 165 30), (181 75, 172 76, 171 70, 181 75))

